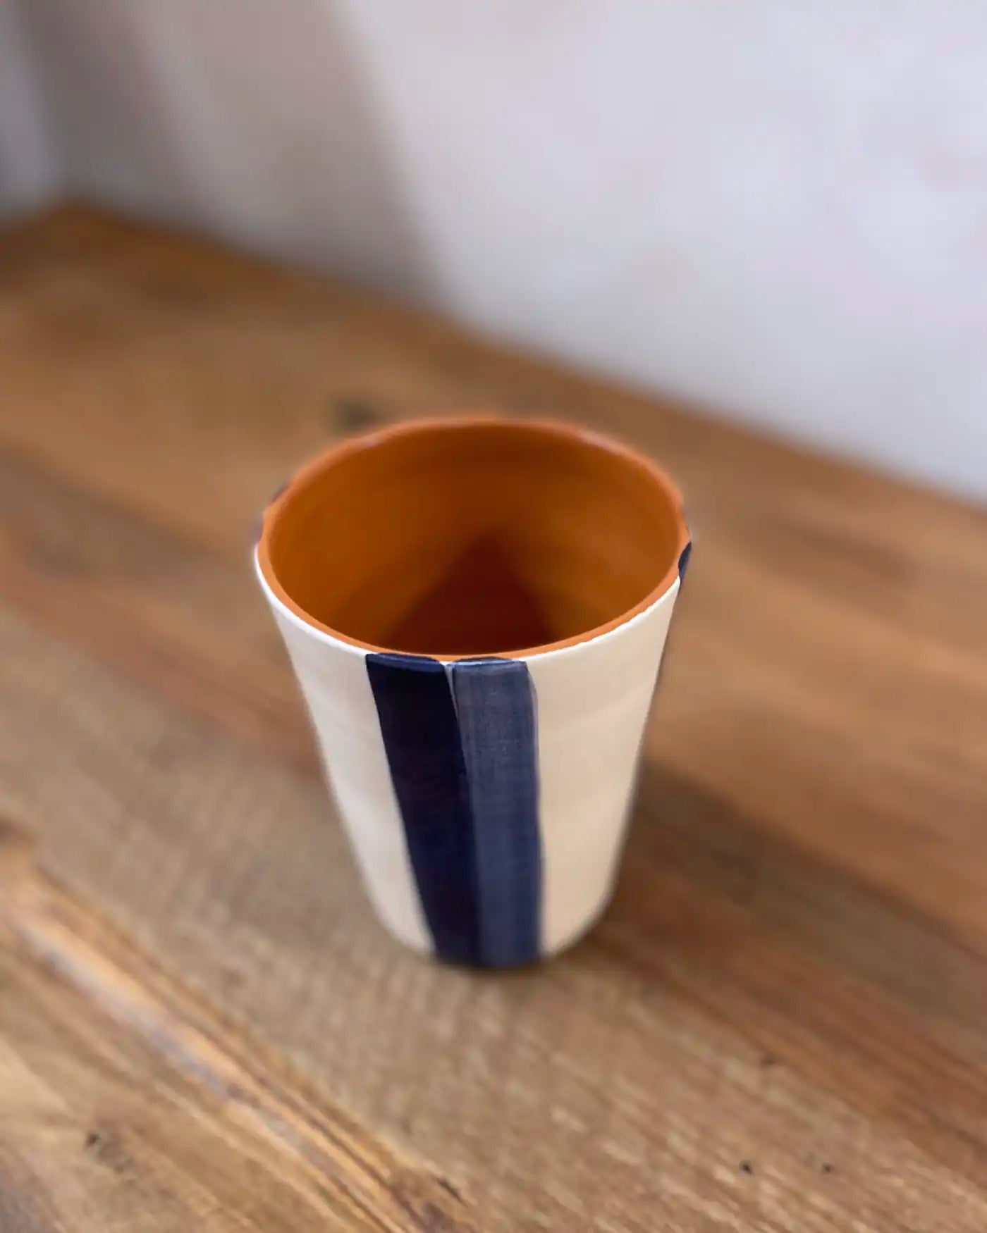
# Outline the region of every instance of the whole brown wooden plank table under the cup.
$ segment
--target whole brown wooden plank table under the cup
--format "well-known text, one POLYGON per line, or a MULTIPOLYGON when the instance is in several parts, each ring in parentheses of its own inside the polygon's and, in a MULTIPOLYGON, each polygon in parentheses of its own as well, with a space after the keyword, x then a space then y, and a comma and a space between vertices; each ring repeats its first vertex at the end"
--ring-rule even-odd
POLYGON ((0 238, 0 593, 2 1233, 987 1228, 982 512, 63 210, 0 238), (508 975, 374 921, 248 568, 307 454, 475 407, 696 540, 616 903, 508 975))

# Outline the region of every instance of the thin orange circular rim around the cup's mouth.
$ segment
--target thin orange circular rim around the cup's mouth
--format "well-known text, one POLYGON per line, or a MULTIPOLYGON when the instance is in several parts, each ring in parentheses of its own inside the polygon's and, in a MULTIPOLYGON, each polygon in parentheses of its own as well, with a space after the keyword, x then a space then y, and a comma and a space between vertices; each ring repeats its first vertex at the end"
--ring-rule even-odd
POLYGON ((634 618, 640 616, 677 584, 680 577, 679 562, 682 554, 690 545, 690 531, 682 510, 681 493, 661 467, 653 462, 646 455, 632 449, 623 441, 616 440, 605 433, 598 433, 595 429, 584 428, 580 424, 570 424, 565 420, 548 417, 512 419, 506 416, 473 413, 459 416, 428 416, 399 420, 397 423, 387 424, 384 428, 370 429, 369 432, 358 433, 342 441, 337 441, 334 445, 328 446, 328 449, 322 450, 307 462, 302 464, 302 466, 300 466, 290 476, 290 478, 281 485, 274 497, 271 497, 260 520, 260 534, 255 547, 255 563, 260 580, 273 598, 276 599, 281 607, 286 608, 291 616, 311 631, 328 635, 337 642, 357 647, 361 651, 370 651, 380 655, 402 655, 412 658, 438 660, 445 663, 452 663, 458 660, 475 658, 475 656, 471 655, 423 655, 417 651, 401 651, 395 647, 379 646, 374 642, 365 642, 359 637, 343 633, 343 630, 334 629, 332 625, 324 624, 324 621, 312 616, 311 613, 307 613, 300 604, 297 604, 281 586, 270 560, 270 536, 274 526, 284 515, 289 496, 292 492, 297 492, 300 486, 313 483, 327 470, 337 465, 343 459, 349 457, 353 454, 361 453, 363 450, 376 449, 380 445, 401 436, 415 435, 418 433, 431 433, 436 430, 448 432, 450 429, 469 429, 477 427, 510 427, 511 430, 522 429, 533 433, 551 434, 570 443, 590 445, 596 449, 619 455, 633 467, 645 472, 648 477, 663 490, 665 497, 669 499, 669 507, 672 512, 676 529, 676 546, 669 568, 665 571, 660 582, 633 607, 627 608, 617 616, 613 616, 600 625, 595 625, 579 634, 574 634, 570 637, 559 639, 554 642, 542 642, 538 646, 523 647, 521 650, 498 652, 496 655, 497 658, 532 658, 533 656, 548 655, 554 651, 564 651, 570 647, 580 646, 585 642, 595 641, 596 639, 628 624, 634 620, 634 618))

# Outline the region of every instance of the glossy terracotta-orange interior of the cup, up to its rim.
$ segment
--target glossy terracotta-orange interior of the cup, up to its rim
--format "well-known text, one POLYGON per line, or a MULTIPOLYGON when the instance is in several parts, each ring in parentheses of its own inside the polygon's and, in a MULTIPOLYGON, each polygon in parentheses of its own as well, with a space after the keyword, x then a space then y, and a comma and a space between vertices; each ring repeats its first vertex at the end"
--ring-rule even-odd
POLYGON ((676 577, 687 533, 666 477, 563 424, 428 420, 302 469, 258 556, 297 615, 375 650, 532 653, 592 637, 676 577))

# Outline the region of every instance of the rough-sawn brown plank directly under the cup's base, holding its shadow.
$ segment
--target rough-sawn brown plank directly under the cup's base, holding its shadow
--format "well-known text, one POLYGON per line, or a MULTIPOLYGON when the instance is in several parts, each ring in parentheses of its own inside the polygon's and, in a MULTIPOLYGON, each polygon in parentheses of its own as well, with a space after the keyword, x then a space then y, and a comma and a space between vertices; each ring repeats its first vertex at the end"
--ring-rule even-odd
POLYGON ((46 867, 484 1228, 982 1227, 985 961, 934 926, 653 783, 593 938, 496 979, 426 964, 310 777, 0 631, 0 784, 46 867))

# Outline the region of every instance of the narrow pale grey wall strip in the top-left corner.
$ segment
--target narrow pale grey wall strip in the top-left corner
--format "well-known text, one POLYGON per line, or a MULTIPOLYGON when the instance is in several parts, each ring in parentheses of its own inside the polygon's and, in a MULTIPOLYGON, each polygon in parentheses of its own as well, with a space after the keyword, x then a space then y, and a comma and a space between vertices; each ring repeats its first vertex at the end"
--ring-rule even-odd
POLYGON ((59 189, 38 70, 19 0, 0 0, 0 218, 39 206, 59 189))

